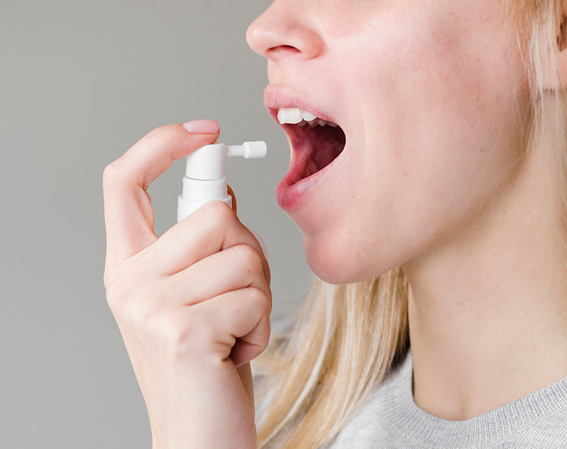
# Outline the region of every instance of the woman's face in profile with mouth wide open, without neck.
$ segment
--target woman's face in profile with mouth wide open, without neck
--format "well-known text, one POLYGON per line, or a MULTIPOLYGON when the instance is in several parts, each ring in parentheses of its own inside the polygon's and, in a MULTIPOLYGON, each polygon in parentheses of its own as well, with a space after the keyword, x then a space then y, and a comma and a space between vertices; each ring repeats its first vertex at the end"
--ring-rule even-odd
POLYGON ((276 0, 251 25, 268 111, 340 127, 283 125, 277 199, 321 279, 372 279, 483 226, 522 155, 516 26, 495 0, 276 0))

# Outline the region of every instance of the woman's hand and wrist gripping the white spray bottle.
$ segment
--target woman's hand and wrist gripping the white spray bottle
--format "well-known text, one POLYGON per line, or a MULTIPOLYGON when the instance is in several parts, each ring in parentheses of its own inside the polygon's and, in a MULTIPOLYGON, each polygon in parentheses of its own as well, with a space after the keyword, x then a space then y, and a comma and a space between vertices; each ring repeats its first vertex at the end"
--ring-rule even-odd
POLYGON ((151 425, 154 449, 256 447, 250 363, 268 345, 270 271, 222 202, 161 238, 147 187, 173 160, 216 141, 155 129, 103 176, 104 282, 151 425))

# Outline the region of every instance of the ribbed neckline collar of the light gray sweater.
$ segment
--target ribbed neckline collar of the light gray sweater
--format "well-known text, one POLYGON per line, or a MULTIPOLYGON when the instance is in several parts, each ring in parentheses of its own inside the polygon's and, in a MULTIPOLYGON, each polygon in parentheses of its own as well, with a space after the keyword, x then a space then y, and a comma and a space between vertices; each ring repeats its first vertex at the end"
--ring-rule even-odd
POLYGON ((563 378, 492 412, 464 421, 449 421, 425 412, 414 402, 411 351, 398 370, 399 373, 391 373, 380 389, 388 411, 384 419, 389 428, 396 429, 414 445, 447 448, 498 445, 567 407, 567 378, 563 378))

